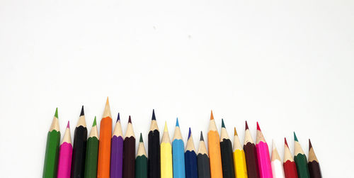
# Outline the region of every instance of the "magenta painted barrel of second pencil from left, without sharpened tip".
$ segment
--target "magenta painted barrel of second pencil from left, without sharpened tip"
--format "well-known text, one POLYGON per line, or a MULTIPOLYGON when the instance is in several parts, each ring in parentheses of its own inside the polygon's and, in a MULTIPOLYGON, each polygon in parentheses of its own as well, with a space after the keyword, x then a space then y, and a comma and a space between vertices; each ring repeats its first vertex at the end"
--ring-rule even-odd
POLYGON ((57 178, 70 178, 72 169, 72 144, 62 143, 59 148, 58 174, 57 178))

